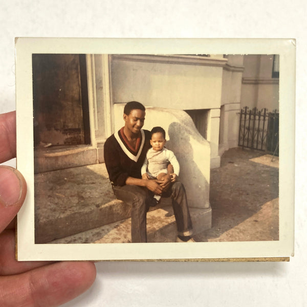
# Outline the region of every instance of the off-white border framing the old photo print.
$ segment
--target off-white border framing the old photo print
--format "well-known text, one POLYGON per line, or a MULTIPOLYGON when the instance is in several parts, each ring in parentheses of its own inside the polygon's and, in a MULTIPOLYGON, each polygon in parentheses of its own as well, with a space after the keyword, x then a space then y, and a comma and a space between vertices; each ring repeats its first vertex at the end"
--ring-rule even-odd
POLYGON ((16 38, 17 168, 28 193, 17 216, 18 260, 163 260, 294 254, 295 39, 16 38), (35 244, 32 54, 279 54, 279 240, 256 242, 35 244))

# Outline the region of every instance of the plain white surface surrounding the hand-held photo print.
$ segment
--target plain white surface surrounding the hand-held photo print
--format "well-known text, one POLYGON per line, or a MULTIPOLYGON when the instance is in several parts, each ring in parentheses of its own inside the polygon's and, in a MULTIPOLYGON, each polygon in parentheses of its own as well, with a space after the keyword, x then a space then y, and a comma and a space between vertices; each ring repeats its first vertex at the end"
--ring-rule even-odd
POLYGON ((94 286, 63 306, 306 305, 306 12, 307 3, 299 0, 0 2, 0 113, 15 109, 16 36, 297 39, 296 238, 290 262, 100 262, 94 286))

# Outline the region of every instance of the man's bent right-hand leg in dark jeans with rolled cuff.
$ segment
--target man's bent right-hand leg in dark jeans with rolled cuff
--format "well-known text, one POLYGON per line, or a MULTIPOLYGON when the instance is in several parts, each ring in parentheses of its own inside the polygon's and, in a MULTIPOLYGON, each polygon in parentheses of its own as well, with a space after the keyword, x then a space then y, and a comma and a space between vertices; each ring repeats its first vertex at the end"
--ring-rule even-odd
POLYGON ((192 234, 193 227, 187 202, 186 191, 183 184, 179 181, 173 183, 171 188, 165 193, 163 193, 162 196, 171 196, 178 235, 180 237, 189 237, 192 234))

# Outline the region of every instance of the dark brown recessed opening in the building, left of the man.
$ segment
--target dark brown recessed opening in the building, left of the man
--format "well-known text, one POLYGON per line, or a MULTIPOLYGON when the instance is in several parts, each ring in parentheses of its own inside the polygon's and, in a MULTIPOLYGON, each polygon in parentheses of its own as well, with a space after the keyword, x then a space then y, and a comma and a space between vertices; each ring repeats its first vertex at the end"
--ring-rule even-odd
POLYGON ((33 54, 36 148, 91 143, 85 55, 33 54))

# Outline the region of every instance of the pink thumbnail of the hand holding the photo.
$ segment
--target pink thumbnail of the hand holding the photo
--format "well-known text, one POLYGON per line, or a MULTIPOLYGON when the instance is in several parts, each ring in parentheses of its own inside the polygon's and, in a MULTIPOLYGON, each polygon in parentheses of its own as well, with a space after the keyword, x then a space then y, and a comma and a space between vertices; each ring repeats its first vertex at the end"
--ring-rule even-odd
POLYGON ((10 166, 0 166, 0 203, 5 207, 15 205, 21 197, 18 171, 10 166))

